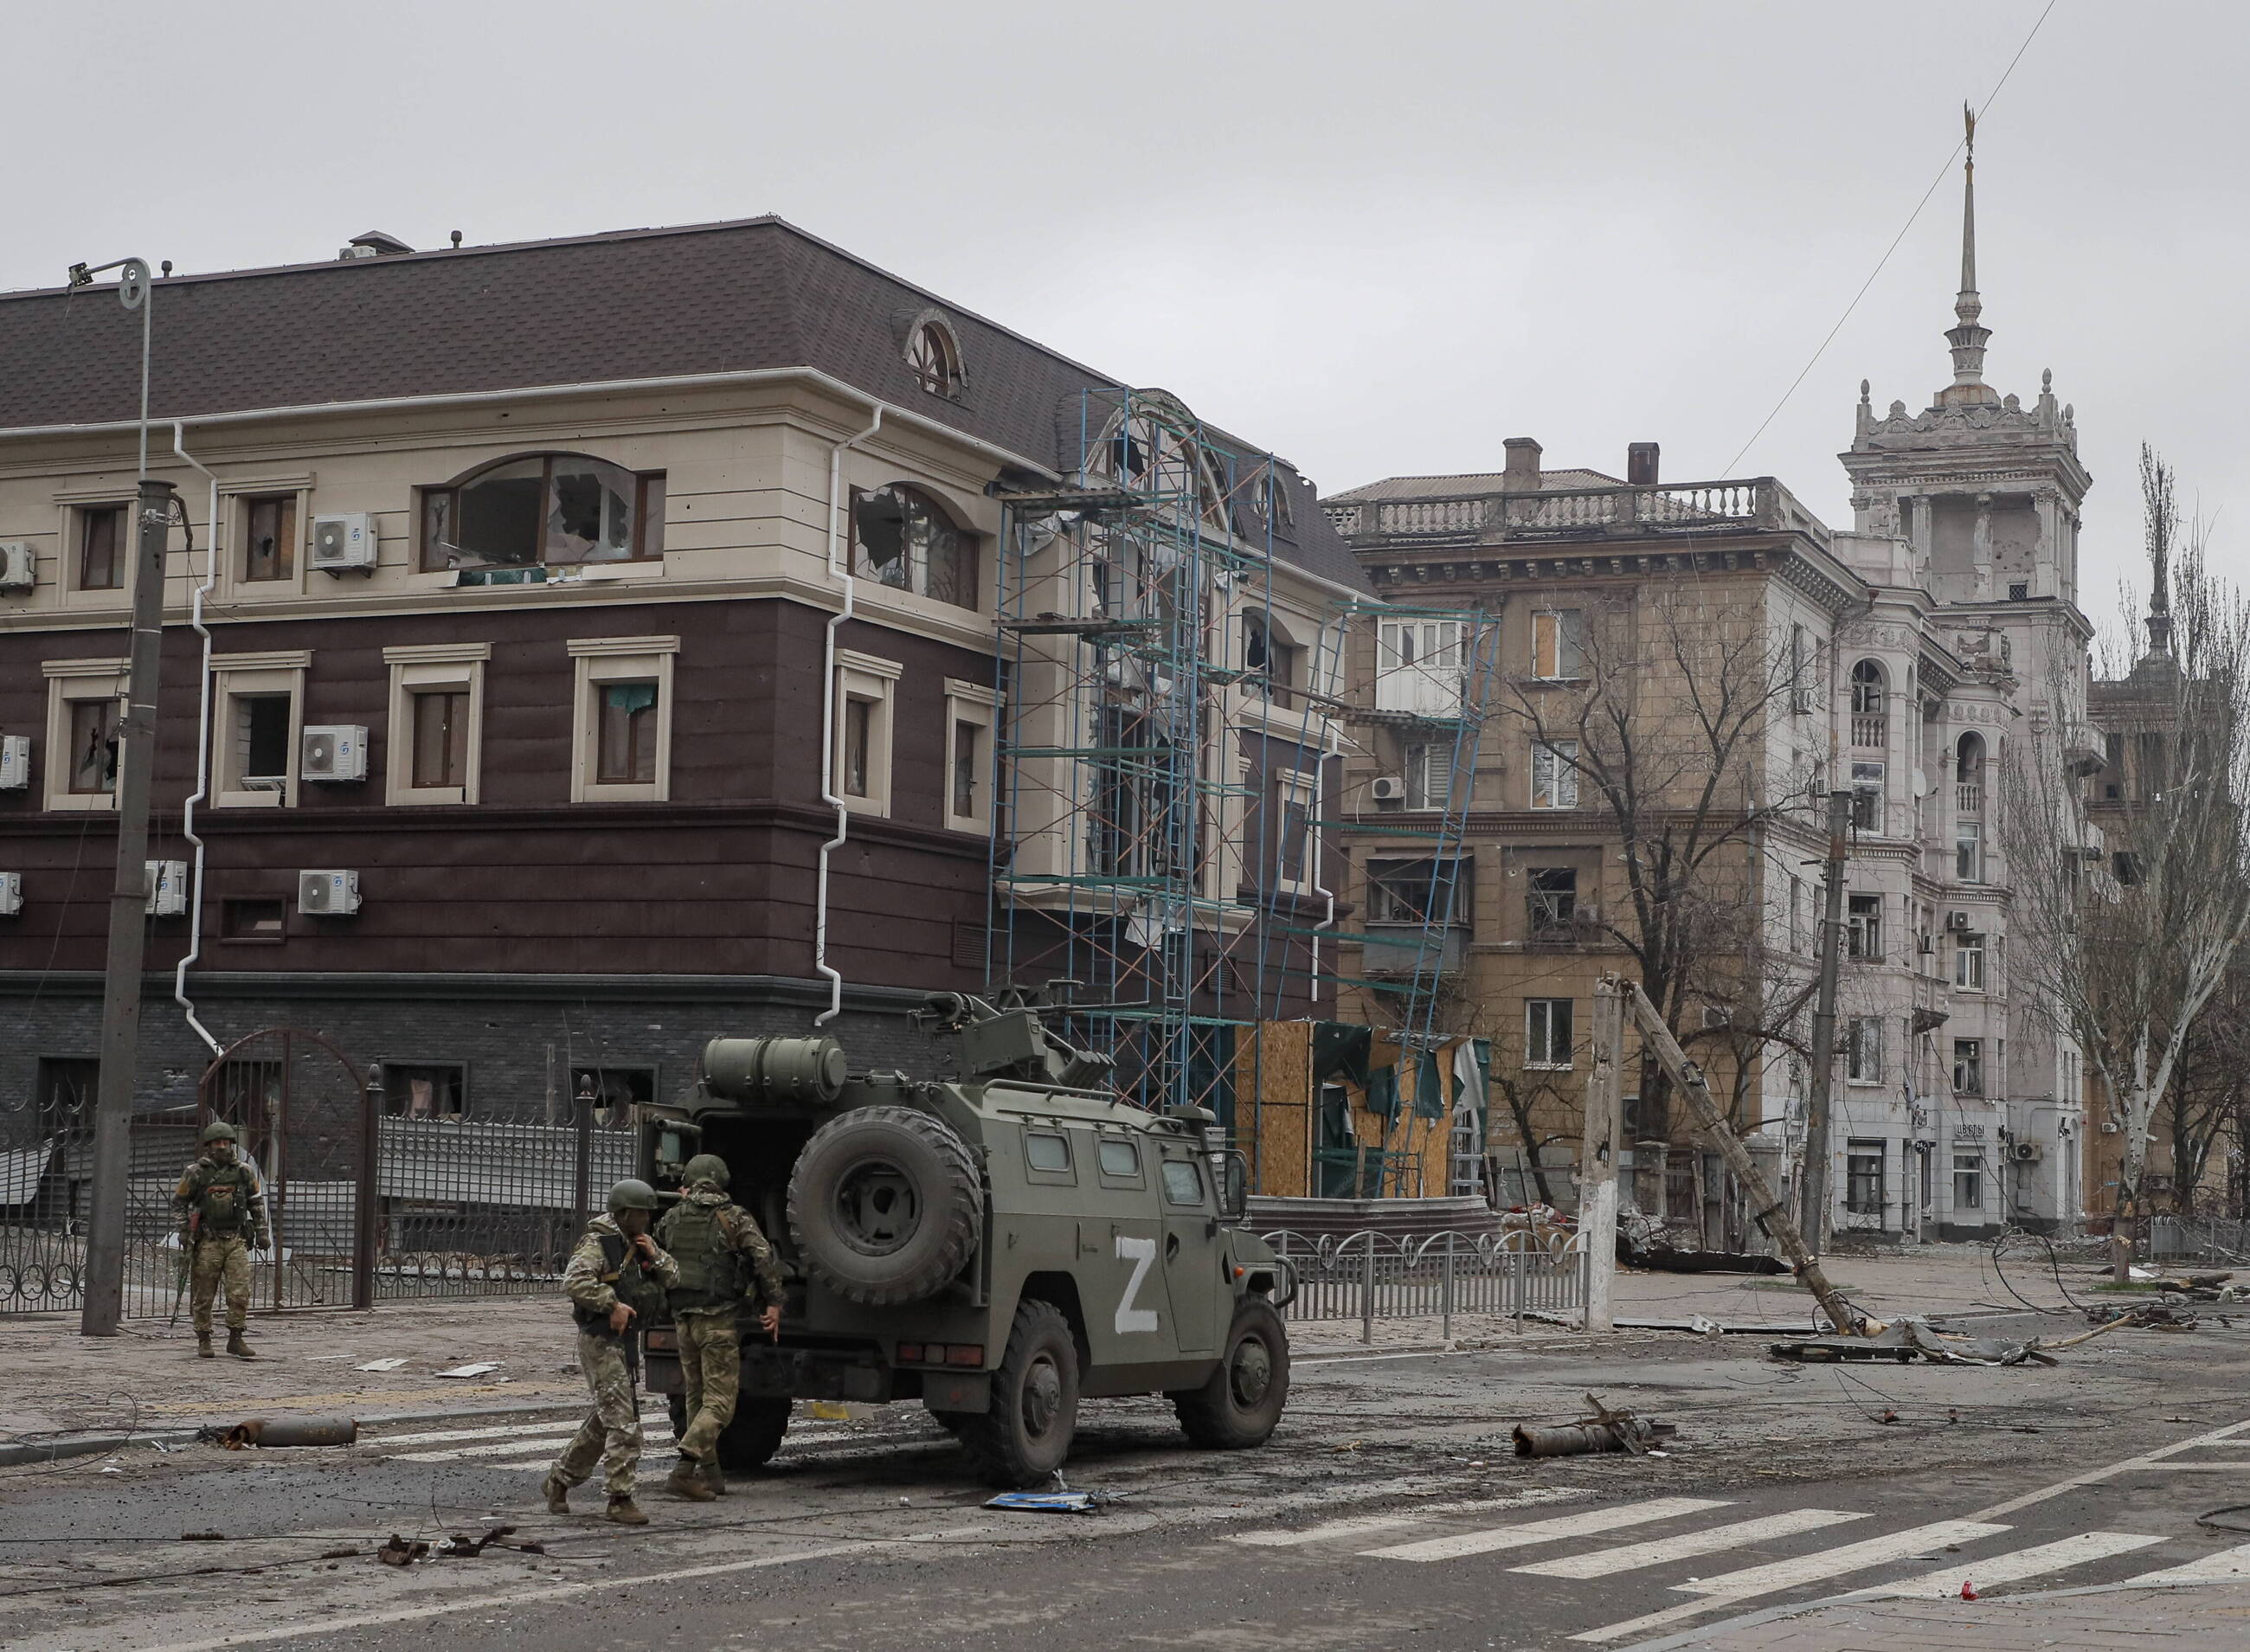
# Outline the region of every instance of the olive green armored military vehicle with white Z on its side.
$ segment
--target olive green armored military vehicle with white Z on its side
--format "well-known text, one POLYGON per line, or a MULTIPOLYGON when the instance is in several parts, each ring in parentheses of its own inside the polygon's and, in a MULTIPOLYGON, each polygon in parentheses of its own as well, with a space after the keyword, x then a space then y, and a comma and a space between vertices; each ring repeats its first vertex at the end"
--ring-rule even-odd
MULTIPOLYGON (((1048 1479, 1096 1395, 1163 1393, 1192 1443, 1262 1445, 1294 1281, 1240 1227, 1242 1159, 1210 1112, 1118 1101, 1109 1060, 1035 1008, 940 993, 920 1020, 958 1035, 961 1078, 848 1071, 832 1038, 718 1038, 644 1134, 659 1188, 720 1155, 790 1274, 781 1339, 745 1337, 722 1465, 767 1461, 790 1400, 920 1400, 994 1485, 1048 1479)), ((646 1362, 677 1422, 662 1323, 646 1362)))

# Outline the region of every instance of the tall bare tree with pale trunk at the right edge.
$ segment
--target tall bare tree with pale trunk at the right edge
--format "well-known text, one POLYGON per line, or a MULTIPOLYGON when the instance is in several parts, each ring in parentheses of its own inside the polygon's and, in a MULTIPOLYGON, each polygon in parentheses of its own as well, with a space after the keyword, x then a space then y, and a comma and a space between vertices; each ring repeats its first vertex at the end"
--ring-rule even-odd
MULTIPOLYGON (((2250 603, 2180 545, 2171 468, 2142 448, 2156 572, 2149 653, 2133 666, 2160 716, 2138 743, 2138 799, 2090 855, 2086 788, 2063 761, 2079 716, 2059 682, 2000 772, 1998 840, 2014 887, 2014 968, 2032 1011, 2086 1051, 2124 1137, 2110 1265, 2126 1276, 2144 1206, 2149 1139, 2182 1078, 2198 1017, 2250 936, 2243 803, 2250 801, 2250 603), (2174 560, 2178 556, 2178 560, 2174 560)), ((2131 619, 2128 619, 2131 623, 2131 619)))

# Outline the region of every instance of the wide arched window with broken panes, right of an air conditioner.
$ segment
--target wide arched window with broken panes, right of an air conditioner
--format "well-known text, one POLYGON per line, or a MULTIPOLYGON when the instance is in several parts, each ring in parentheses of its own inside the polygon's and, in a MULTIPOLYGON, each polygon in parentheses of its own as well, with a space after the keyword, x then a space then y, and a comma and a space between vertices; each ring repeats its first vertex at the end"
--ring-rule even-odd
POLYGON ((531 452, 421 495, 421 567, 572 567, 664 556, 664 473, 531 452))

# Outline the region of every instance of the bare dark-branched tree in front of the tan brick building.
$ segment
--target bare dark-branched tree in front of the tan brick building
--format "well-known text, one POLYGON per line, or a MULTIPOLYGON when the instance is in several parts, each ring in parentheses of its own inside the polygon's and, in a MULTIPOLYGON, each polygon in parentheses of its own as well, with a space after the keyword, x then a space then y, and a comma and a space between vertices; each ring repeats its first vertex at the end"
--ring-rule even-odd
MULTIPOLYGON (((1760 590, 1721 578, 1647 585, 1570 630, 1557 621, 1555 648, 1552 677, 1508 682, 1494 713, 1530 731, 1534 788, 1552 776, 1609 815, 1627 898, 1600 930, 1683 1044, 1714 1042, 1706 1006, 1732 1024, 1755 999, 1744 1026, 1764 1029, 1757 842, 1807 801, 1804 776, 1768 772, 1766 734, 1811 662, 1780 646, 1760 590)), ((1737 1056, 1739 1092, 1764 1040, 1717 1042, 1737 1056)), ((1640 1130, 1672 1134, 1670 1080, 1647 1056, 1640 1130)))

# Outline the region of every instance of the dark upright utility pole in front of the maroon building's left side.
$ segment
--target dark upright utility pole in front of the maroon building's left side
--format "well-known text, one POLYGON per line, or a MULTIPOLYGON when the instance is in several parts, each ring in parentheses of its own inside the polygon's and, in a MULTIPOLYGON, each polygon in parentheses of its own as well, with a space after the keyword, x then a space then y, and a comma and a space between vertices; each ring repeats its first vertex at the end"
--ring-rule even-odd
POLYGON ((86 1224, 86 1296, 79 1332, 115 1337, 124 1317, 126 1177, 133 1087, 140 1067, 142 961, 148 948, 148 783, 155 767, 155 695, 164 639, 164 540, 173 491, 142 475, 133 520, 133 659, 117 722, 117 878, 101 997, 101 1092, 94 1103, 94 1202, 86 1224))

